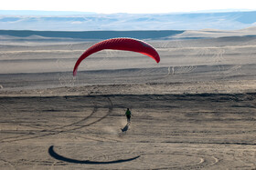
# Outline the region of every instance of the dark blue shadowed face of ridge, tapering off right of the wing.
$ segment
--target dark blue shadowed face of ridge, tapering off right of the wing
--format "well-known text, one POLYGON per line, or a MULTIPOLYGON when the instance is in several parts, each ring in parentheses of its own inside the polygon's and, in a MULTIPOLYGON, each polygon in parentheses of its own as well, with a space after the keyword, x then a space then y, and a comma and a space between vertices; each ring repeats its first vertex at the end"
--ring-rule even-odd
POLYGON ((160 30, 160 31, 27 31, 27 30, 0 30, 0 39, 27 39, 49 40, 71 38, 80 40, 108 39, 114 37, 133 37, 138 39, 166 39, 179 35, 184 31, 160 30), (2 38, 1 38, 2 35, 2 38))

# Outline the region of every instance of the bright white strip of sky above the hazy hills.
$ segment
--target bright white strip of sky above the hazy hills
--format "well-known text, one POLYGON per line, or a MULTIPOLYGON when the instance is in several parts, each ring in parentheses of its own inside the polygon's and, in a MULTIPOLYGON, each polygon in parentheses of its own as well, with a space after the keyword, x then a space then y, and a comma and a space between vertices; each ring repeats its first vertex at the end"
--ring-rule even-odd
POLYGON ((255 0, 1 0, 0 10, 79 11, 103 14, 256 10, 255 0))

